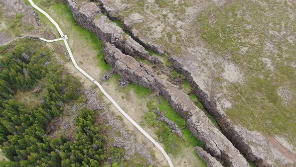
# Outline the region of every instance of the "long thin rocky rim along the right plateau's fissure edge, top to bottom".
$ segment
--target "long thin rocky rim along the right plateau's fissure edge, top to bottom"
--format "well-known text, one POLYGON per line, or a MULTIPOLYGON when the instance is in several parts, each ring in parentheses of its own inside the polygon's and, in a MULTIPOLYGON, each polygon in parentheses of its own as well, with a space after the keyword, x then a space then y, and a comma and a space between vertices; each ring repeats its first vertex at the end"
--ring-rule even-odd
MULTIPOLYGON (((116 12, 120 11, 117 6, 110 6, 106 0, 97 1, 101 3, 102 8, 108 13, 111 19, 118 20, 114 15, 116 12)), ((123 29, 128 31, 132 37, 145 48, 159 54, 164 54, 165 49, 160 45, 151 43, 149 39, 137 36, 137 30, 133 29, 132 25, 136 23, 137 19, 135 18, 140 18, 140 16, 134 15, 135 14, 130 14, 121 20, 123 29)), ((184 62, 182 62, 179 57, 171 54, 170 60, 173 61, 174 68, 186 76, 188 82, 193 87, 195 95, 200 99, 205 108, 209 110, 211 115, 215 117, 225 135, 249 160, 259 166, 277 166, 278 163, 287 166, 294 164, 291 159, 285 157, 285 155, 278 151, 261 133, 256 131, 252 132, 240 125, 235 125, 221 109, 220 104, 217 104, 215 98, 210 99, 210 93, 200 87, 198 79, 194 78, 191 70, 183 65, 184 62)))

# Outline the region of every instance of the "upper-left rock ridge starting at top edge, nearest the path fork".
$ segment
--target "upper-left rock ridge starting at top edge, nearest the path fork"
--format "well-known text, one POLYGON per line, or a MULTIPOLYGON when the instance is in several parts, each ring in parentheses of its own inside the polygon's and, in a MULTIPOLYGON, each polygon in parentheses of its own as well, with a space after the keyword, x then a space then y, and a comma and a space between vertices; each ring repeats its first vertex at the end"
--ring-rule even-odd
POLYGON ((68 6, 76 22, 91 32, 93 32, 101 41, 114 44, 123 53, 149 60, 153 63, 159 61, 155 56, 150 56, 140 44, 112 23, 106 16, 101 13, 101 7, 94 3, 78 4, 77 0, 67 0, 68 6), (81 6, 79 8, 79 6, 81 6))

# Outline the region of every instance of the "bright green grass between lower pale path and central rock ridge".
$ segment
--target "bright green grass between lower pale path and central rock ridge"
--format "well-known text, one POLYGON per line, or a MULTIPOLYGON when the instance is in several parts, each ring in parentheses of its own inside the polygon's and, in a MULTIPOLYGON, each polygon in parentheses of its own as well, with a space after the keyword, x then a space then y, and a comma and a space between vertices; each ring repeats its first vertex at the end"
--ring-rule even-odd
MULTIPOLYGON (((142 125, 156 128, 156 134, 158 135, 158 140, 164 144, 164 148, 168 153, 178 155, 185 147, 190 147, 194 149, 196 146, 203 146, 198 138, 196 138, 186 125, 185 119, 183 119, 165 100, 163 96, 157 97, 153 91, 143 88, 134 83, 125 87, 122 91, 129 92, 133 91, 137 98, 141 98, 146 102, 146 107, 149 110, 156 110, 157 107, 160 108, 161 112, 165 113, 165 116, 174 121, 183 133, 183 137, 177 136, 172 133, 172 129, 168 124, 164 122, 159 122, 157 120, 158 115, 153 112, 146 112, 142 117, 144 119, 141 122, 142 125), (160 98, 160 104, 159 102, 160 98)), ((197 155, 200 166, 206 166, 203 160, 197 155)))

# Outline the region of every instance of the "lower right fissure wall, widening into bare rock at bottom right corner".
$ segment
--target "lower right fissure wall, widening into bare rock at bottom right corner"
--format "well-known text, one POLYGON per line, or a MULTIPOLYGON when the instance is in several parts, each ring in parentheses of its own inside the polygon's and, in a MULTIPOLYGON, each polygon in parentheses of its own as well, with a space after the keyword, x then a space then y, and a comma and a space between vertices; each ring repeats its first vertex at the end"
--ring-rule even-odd
POLYGON ((197 83, 192 73, 185 67, 180 58, 171 56, 173 66, 183 73, 188 82, 192 86, 194 94, 199 98, 204 107, 213 115, 223 130, 224 134, 231 140, 231 142, 238 148, 246 157, 253 161, 258 166, 292 166, 293 161, 285 157, 279 150, 277 150, 266 138, 259 132, 249 131, 241 125, 235 125, 217 104, 215 98, 210 98, 207 91, 203 90, 197 83))

